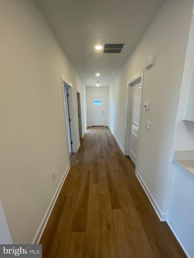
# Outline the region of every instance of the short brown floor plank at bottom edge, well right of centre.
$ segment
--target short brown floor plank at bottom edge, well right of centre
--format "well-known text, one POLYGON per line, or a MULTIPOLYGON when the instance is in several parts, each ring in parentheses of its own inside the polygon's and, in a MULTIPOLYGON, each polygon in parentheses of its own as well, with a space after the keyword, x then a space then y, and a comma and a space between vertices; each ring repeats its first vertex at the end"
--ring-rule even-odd
POLYGON ((130 233, 137 258, 154 258, 146 233, 143 228, 131 228, 130 233))

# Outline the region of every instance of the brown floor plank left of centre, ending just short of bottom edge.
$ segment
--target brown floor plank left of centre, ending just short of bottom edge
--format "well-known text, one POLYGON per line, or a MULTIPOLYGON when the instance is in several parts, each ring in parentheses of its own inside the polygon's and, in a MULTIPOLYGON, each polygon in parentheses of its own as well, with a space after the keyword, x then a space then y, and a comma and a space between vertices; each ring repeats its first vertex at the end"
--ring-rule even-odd
POLYGON ((83 171, 77 204, 75 207, 75 214, 73 218, 71 230, 72 232, 85 232, 88 209, 89 184, 90 171, 83 171))

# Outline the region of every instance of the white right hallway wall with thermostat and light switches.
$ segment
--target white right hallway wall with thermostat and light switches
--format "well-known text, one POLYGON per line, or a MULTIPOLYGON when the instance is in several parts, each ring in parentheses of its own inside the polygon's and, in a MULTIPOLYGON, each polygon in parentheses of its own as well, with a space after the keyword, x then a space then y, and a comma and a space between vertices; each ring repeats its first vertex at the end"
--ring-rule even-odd
POLYGON ((144 73, 142 103, 149 103, 149 111, 142 108, 137 171, 164 215, 192 9, 193 0, 167 0, 109 87, 109 125, 124 148, 127 81, 144 69, 147 57, 156 56, 144 73), (146 120, 152 122, 151 130, 145 128, 146 120))

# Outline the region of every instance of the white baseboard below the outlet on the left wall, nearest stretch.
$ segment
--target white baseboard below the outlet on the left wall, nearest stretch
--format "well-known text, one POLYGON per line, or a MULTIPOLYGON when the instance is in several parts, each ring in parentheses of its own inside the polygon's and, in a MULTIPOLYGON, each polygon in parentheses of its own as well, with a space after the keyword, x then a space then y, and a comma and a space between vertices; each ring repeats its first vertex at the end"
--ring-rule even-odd
POLYGON ((57 187, 57 190, 55 191, 55 194, 54 194, 54 196, 53 196, 53 198, 52 198, 52 200, 51 200, 51 202, 49 204, 49 207, 48 207, 48 209, 47 209, 47 211, 45 213, 45 216, 43 217, 43 220, 42 220, 42 222, 41 222, 41 224, 40 224, 40 226, 38 228, 38 231, 36 232, 36 235, 35 235, 35 237, 34 237, 34 239, 32 241, 32 244, 38 244, 40 239, 41 239, 41 237, 42 237, 42 234, 43 234, 44 229, 46 227, 46 224, 47 224, 47 222, 49 220, 49 217, 51 215, 51 212, 52 212, 52 209, 53 209, 53 207, 55 205, 57 197, 58 197, 58 195, 59 195, 59 193, 61 191, 61 188, 62 188, 62 185, 63 185, 63 183, 65 181, 65 178, 66 178, 66 176, 67 176, 67 174, 69 172, 69 169, 70 169, 70 164, 66 168, 65 173, 64 173, 64 175, 63 175, 63 177, 62 177, 62 179, 61 179, 61 181, 60 181, 60 183, 59 183, 59 185, 57 187))

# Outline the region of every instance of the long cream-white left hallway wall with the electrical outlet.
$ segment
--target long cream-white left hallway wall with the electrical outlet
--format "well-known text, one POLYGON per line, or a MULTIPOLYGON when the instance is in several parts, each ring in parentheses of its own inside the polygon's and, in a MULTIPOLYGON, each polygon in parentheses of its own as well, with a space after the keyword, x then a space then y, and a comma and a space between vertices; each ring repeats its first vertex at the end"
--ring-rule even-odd
POLYGON ((61 75, 73 84, 76 145, 76 88, 86 90, 33 1, 0 5, 0 196, 13 243, 32 243, 69 165, 61 75))

